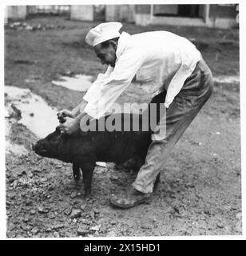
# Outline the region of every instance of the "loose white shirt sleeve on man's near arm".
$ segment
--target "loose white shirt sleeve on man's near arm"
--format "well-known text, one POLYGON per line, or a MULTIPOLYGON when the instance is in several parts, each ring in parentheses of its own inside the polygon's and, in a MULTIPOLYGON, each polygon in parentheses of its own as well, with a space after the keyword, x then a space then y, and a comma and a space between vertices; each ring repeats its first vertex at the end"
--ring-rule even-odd
POLYGON ((145 62, 145 51, 132 47, 118 58, 113 72, 100 83, 100 89, 85 106, 85 113, 101 118, 133 80, 137 70, 145 62))

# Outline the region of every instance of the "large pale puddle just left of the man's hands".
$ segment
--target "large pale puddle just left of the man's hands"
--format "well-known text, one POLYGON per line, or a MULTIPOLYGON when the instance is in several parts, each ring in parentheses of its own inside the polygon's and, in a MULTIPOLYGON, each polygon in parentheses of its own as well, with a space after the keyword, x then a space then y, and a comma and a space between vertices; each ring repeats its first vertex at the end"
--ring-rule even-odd
POLYGON ((5 86, 5 92, 10 99, 6 107, 14 104, 21 110, 22 118, 18 123, 33 131, 38 138, 46 137, 58 126, 57 110, 48 106, 40 96, 32 94, 29 89, 14 86, 5 86))

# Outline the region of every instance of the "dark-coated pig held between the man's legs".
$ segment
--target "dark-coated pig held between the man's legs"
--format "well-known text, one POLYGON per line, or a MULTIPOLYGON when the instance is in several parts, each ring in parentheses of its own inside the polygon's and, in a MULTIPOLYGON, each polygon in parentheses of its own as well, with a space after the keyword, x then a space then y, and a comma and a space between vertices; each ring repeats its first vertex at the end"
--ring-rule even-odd
POLYGON ((39 140, 33 146, 35 153, 43 157, 72 162, 73 176, 76 181, 80 178, 81 170, 85 196, 91 192, 93 169, 96 162, 116 162, 120 165, 132 159, 129 162, 133 169, 138 170, 145 162, 145 156, 151 142, 149 128, 147 131, 141 129, 142 116, 140 114, 118 113, 108 115, 105 119, 93 120, 93 122, 96 122, 95 131, 82 132, 77 130, 70 135, 61 133, 58 126, 52 134, 39 140), (106 129, 99 131, 99 123, 104 120, 106 123, 108 118, 111 118, 110 120, 121 118, 121 131, 106 129), (126 120, 128 120, 127 122, 131 121, 129 131, 124 131, 126 120), (139 122, 140 130, 134 131, 133 120, 139 122))

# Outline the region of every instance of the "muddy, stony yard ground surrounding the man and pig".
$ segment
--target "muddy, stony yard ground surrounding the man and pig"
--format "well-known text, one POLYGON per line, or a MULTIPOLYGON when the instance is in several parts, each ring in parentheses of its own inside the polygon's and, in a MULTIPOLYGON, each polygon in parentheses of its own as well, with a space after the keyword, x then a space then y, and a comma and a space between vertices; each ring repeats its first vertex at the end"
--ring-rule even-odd
MULTIPOLYGON (((72 108, 83 93, 54 86, 60 74, 95 76, 105 70, 82 38, 93 22, 33 18, 47 30, 5 27, 5 84, 29 88, 50 106, 72 108), (24 61, 24 62, 23 62, 24 61)), ((238 30, 172 26, 133 26, 125 31, 170 30, 195 38, 214 75, 239 75, 238 30)), ((148 102, 137 86, 118 102, 148 102)), ((6 154, 8 238, 229 235, 241 234, 240 87, 216 83, 214 93, 177 143, 149 204, 130 210, 109 205, 114 191, 126 190, 135 174, 97 166, 93 194, 83 198, 71 165, 41 158, 30 150, 38 138, 21 124, 10 129, 11 142, 27 154, 6 154)))

